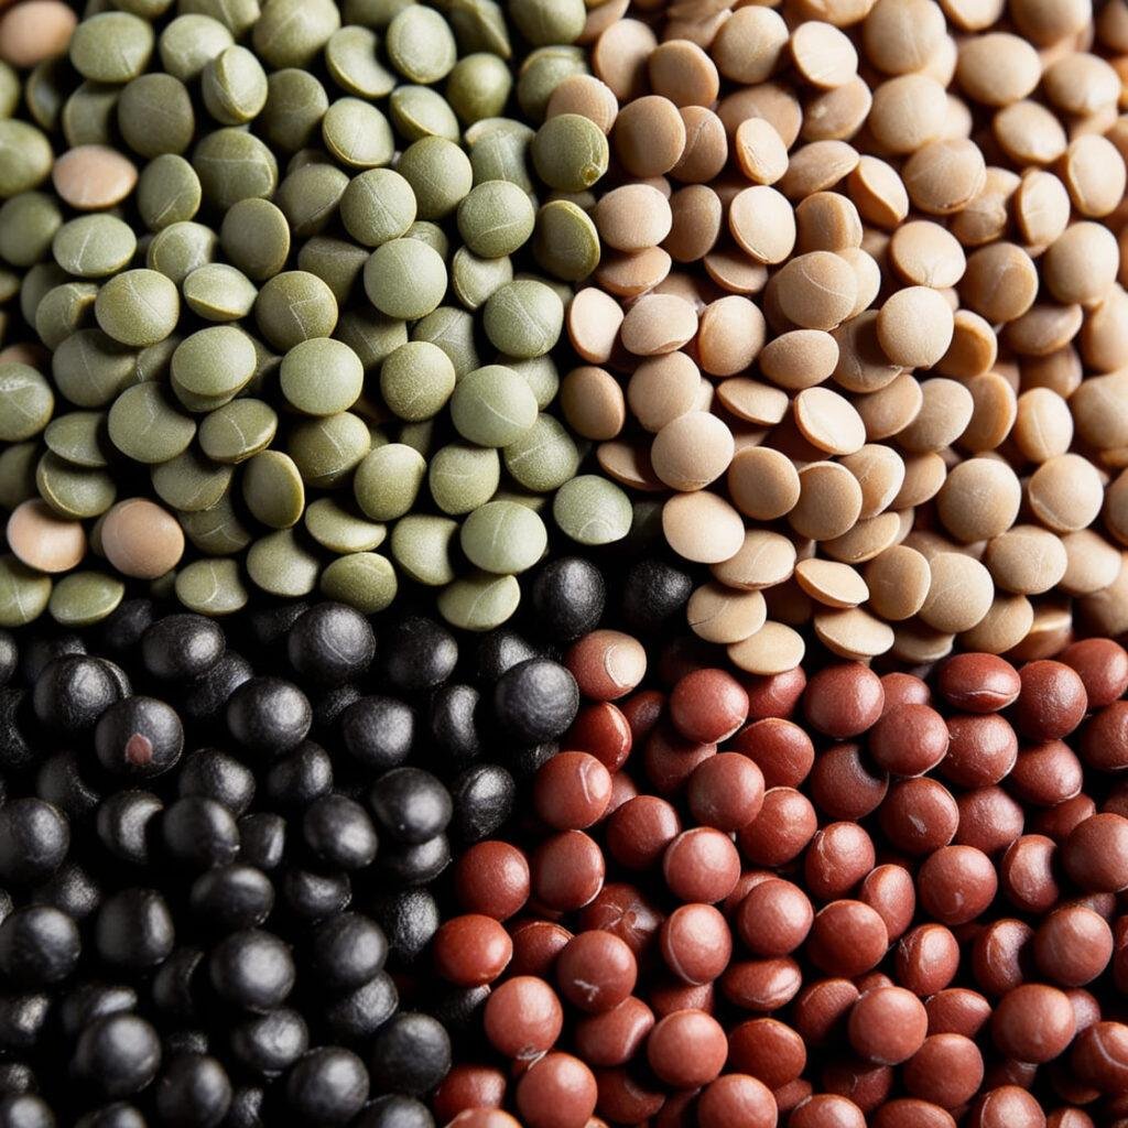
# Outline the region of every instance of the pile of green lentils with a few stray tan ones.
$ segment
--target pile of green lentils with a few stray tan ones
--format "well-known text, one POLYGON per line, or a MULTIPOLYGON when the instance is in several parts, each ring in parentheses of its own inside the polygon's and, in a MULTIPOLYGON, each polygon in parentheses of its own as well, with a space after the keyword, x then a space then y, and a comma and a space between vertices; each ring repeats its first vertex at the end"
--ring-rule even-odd
POLYGON ((487 629, 549 525, 627 534, 554 414, 608 164, 545 121, 582 0, 34 3, 0 25, 0 625, 132 578, 208 615, 409 581, 487 629))

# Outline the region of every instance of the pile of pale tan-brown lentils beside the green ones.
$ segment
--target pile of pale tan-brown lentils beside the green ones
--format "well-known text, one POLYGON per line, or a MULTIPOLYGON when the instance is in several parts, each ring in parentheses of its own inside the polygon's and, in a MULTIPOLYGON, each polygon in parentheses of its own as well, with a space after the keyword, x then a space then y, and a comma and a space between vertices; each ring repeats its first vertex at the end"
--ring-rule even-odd
POLYGON ((549 100, 614 157, 563 403, 710 566, 693 629, 752 673, 809 624, 909 663, 1128 629, 1128 7, 606 7, 549 100))

